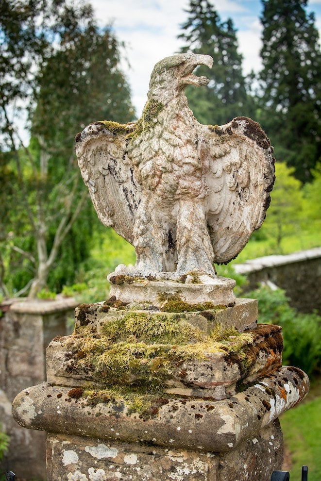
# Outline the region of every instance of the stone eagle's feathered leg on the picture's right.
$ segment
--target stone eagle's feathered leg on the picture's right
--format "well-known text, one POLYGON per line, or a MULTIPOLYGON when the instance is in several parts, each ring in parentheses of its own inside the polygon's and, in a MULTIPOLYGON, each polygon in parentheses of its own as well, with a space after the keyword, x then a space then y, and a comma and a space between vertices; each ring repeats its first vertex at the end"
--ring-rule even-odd
POLYGON ((200 272, 215 277, 214 251, 203 199, 181 200, 177 216, 177 274, 200 272))

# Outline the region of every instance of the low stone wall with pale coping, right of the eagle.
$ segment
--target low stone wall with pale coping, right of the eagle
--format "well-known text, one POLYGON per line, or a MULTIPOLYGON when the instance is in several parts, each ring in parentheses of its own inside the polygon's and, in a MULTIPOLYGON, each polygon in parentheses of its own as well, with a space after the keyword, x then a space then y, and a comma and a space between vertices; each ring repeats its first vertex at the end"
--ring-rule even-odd
POLYGON ((271 255, 235 264, 239 274, 247 275, 248 290, 261 282, 284 289, 291 306, 301 312, 321 312, 321 248, 302 250, 289 255, 271 255))

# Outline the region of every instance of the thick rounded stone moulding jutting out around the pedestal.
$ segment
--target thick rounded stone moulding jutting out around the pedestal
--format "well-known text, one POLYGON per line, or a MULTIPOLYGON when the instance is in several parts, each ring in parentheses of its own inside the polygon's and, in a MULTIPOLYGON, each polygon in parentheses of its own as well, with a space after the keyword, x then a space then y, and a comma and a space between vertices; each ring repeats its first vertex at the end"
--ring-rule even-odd
POLYGON ((87 396, 70 398, 69 388, 44 383, 18 394, 13 414, 29 429, 227 452, 298 403, 308 386, 300 369, 283 367, 230 399, 169 396, 142 415, 121 398, 93 405, 87 396))

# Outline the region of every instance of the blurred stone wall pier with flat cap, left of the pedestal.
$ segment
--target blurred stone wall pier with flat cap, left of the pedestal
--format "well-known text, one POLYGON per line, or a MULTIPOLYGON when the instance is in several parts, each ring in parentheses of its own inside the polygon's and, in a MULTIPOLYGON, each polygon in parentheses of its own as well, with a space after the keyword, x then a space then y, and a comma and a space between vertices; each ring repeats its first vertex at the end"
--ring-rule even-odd
POLYGON ((0 472, 18 478, 46 478, 45 433, 21 428, 11 415, 11 403, 21 390, 46 379, 46 348, 57 335, 67 335, 67 319, 75 299, 18 300, 0 305, 0 424, 10 446, 0 472))

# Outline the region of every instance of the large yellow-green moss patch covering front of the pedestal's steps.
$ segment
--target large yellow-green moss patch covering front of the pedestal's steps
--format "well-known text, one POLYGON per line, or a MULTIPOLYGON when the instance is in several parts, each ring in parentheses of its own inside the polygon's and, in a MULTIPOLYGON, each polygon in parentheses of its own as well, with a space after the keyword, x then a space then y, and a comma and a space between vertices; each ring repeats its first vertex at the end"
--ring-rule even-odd
MULTIPOLYGON (((251 344, 250 333, 220 325, 210 335, 177 315, 129 312, 97 334, 79 327, 67 340, 68 370, 90 372, 99 386, 158 389, 187 361, 204 361, 214 352, 237 353, 251 344)), ((67 359, 66 359, 67 360, 67 359)))

